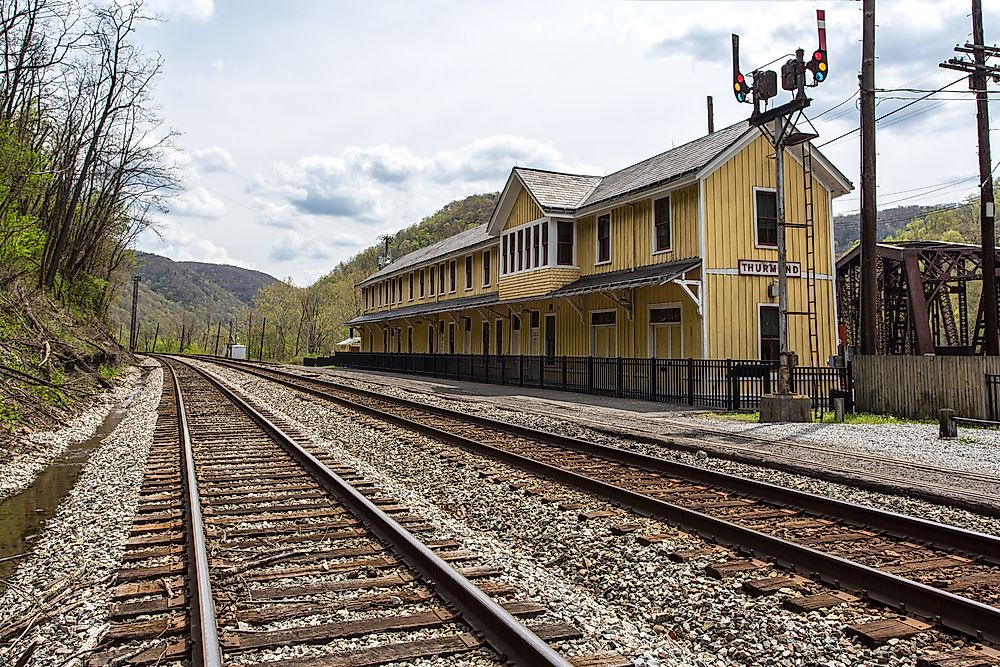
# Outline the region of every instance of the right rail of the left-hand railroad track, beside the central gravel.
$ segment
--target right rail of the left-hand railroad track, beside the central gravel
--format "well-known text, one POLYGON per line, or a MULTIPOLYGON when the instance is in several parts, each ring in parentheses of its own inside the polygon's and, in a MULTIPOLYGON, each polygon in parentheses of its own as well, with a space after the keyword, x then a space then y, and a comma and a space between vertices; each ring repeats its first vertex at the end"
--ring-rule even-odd
POLYGON ((362 519, 403 562, 420 573, 428 585, 455 607, 461 618, 498 653, 513 664, 525 667, 572 667, 551 646, 253 406, 203 370, 186 362, 180 363, 197 372, 253 419, 352 513, 362 519))

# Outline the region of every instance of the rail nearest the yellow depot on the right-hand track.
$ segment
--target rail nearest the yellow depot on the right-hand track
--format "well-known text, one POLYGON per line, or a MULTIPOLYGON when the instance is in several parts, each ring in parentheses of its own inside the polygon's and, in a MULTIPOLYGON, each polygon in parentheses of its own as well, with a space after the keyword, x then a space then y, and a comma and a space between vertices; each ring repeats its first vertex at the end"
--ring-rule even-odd
MULTIPOLYGON (((450 410, 440 406, 427 405, 410 399, 388 396, 379 392, 350 387, 336 382, 331 382, 329 380, 305 378, 293 373, 288 373, 287 371, 268 369, 268 372, 281 376, 271 377, 266 373, 260 372, 255 368, 243 364, 233 364, 232 367, 258 377, 269 379, 273 382, 278 382, 279 384, 283 384, 292 389, 305 391, 318 398, 334 400, 351 409, 360 410, 364 406, 348 401, 342 397, 332 396, 326 392, 302 386, 301 382, 311 382, 329 387, 333 390, 355 393, 373 400, 387 401, 406 409, 427 412, 439 417, 463 421, 477 426, 482 426, 484 428, 495 429, 510 435, 538 440, 546 444, 557 447, 565 447, 584 454, 601 456, 616 463, 633 465, 665 475, 682 477, 688 481, 697 482, 699 484, 709 484, 734 493, 753 496, 774 505, 793 507, 810 514, 836 518, 844 521, 845 523, 861 528, 879 530, 893 537, 922 542, 939 549, 955 551, 1000 565, 1000 538, 993 535, 970 531, 956 526, 949 526, 935 521, 928 521, 927 519, 921 519, 905 514, 898 514, 887 510, 867 507, 865 505, 858 505, 843 500, 837 500, 835 498, 819 496, 768 482, 760 482, 746 477, 740 477, 738 475, 688 465, 678 461, 661 459, 647 454, 640 454, 638 452, 612 447, 610 445, 602 445, 595 442, 589 442, 587 440, 581 440, 579 438, 550 433, 548 431, 539 431, 525 426, 519 426, 517 424, 510 424, 507 422, 489 419, 487 417, 450 410), (294 378, 294 380, 292 378, 294 378)), ((379 411, 374 411, 373 413, 370 412, 370 414, 375 414, 376 416, 385 415, 384 412, 379 411)), ((406 423, 410 424, 410 422, 406 423)))

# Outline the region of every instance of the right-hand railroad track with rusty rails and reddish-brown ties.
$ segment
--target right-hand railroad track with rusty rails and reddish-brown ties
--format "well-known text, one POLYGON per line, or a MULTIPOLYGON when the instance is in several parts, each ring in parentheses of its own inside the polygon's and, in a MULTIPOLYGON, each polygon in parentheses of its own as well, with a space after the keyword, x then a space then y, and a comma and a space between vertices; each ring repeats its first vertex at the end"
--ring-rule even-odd
MULTIPOLYGON (((274 367, 224 365, 595 493, 749 556, 726 565, 729 572, 752 571, 770 561, 932 624, 1000 644, 996 537, 274 367)), ((802 606, 818 603, 805 601, 802 606)))

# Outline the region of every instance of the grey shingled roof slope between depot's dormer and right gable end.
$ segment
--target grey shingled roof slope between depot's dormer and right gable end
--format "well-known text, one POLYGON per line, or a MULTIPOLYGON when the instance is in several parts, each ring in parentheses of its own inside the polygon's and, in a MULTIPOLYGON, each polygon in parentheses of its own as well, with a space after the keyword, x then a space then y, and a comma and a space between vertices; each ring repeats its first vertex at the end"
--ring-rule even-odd
POLYGON ((608 174, 579 207, 593 206, 694 174, 751 129, 750 123, 743 120, 608 174))

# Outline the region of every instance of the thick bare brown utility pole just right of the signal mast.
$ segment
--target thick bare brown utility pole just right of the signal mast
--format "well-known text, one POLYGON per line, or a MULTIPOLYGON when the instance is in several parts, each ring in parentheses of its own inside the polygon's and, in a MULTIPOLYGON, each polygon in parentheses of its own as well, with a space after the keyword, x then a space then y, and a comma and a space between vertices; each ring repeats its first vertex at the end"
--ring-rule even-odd
POLYGON ((878 202, 875 196, 875 0, 863 0, 861 25, 861 354, 877 354, 878 202))

